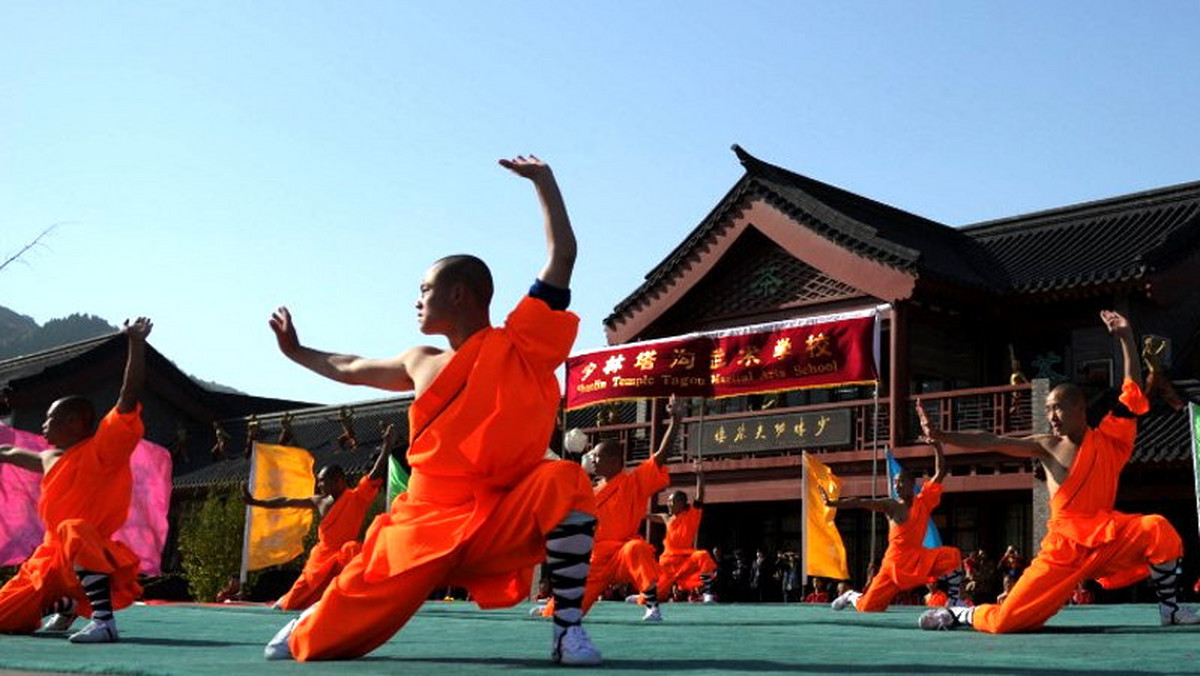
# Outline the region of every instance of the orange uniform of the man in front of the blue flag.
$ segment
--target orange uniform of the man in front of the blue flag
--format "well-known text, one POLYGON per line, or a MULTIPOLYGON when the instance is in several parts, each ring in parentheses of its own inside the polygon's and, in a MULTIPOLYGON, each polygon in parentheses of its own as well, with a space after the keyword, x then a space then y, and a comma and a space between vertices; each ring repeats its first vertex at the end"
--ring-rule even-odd
POLYGON ((923 587, 930 578, 941 578, 962 567, 962 552, 952 546, 926 549, 925 528, 929 515, 942 501, 942 484, 926 483, 912 498, 908 519, 888 526, 888 550, 880 572, 871 578, 863 596, 854 602, 859 612, 887 610, 895 596, 905 590, 923 587))

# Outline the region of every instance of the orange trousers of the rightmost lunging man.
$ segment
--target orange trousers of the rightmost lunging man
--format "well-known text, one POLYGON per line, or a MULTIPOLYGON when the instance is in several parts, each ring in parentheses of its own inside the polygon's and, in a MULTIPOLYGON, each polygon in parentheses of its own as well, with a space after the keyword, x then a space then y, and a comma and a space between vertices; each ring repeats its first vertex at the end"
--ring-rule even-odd
POLYGON ((1157 514, 1130 516, 1111 542, 1097 548, 1048 534, 1004 603, 976 609, 974 628, 990 634, 1038 629, 1058 612, 1080 581, 1118 576, 1132 584, 1145 574, 1130 579, 1129 570, 1183 556, 1183 543, 1166 519, 1157 514))

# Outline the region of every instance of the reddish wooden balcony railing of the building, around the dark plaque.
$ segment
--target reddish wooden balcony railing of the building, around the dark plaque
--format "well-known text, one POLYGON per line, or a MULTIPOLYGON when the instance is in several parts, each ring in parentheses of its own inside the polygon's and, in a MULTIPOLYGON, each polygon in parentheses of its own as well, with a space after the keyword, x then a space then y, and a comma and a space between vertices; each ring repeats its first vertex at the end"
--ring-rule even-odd
MULTIPOLYGON (((692 423, 702 420, 704 423, 719 423, 727 420, 731 423, 743 421, 752 424, 755 419, 786 413, 818 413, 822 411, 847 408, 851 413, 853 430, 851 442, 848 445, 838 447, 838 450, 847 448, 869 450, 880 447, 907 445, 916 442, 920 431, 916 414, 918 399, 930 420, 943 430, 984 430, 996 435, 1027 435, 1032 432, 1033 427, 1031 389, 1030 384, 1021 384, 914 395, 908 400, 907 411, 905 412, 906 425, 904 429, 906 432, 898 443, 893 443, 893 439, 889 437, 892 407, 890 400, 887 397, 768 408, 764 411, 706 414, 703 417, 696 412, 683 418, 680 442, 672 453, 672 456, 678 460, 684 455, 678 449, 695 448, 695 439, 688 438, 689 433, 698 429, 698 425, 692 425, 692 423)), ((653 430, 652 426, 650 421, 642 421, 582 427, 582 431, 588 435, 590 443, 596 443, 601 438, 622 443, 625 448, 626 462, 632 463, 649 457, 652 449, 658 445, 664 427, 660 425, 658 430, 653 430)), ((709 448, 710 444, 706 443, 706 456, 712 456, 709 448)), ((824 450, 834 449, 829 448, 824 450)), ((752 455, 792 455, 797 453, 800 453, 799 448, 781 448, 756 451, 752 455)))

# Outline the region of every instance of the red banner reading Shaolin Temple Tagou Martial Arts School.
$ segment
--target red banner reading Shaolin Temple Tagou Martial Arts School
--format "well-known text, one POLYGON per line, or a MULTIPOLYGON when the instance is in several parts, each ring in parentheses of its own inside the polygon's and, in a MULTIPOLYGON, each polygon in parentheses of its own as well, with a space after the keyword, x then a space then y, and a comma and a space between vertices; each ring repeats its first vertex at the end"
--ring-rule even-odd
POLYGON ((623 345, 566 360, 566 408, 875 382, 874 310, 623 345))

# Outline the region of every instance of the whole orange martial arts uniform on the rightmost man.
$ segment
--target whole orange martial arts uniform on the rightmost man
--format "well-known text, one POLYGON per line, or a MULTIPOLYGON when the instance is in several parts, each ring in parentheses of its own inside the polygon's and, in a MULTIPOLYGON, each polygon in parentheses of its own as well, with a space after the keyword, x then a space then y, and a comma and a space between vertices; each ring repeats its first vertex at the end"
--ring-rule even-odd
MULTIPOLYGON (((1141 388, 1128 378, 1121 403, 1139 415, 1150 411, 1141 388)), ((1136 436, 1135 418, 1112 413, 1084 433, 1067 480, 1050 498, 1042 550, 1003 603, 976 608, 976 629, 992 634, 1037 629, 1070 599, 1081 580, 1098 580, 1106 590, 1123 587, 1148 576, 1150 564, 1183 556, 1180 534, 1166 519, 1112 509, 1136 436)))

